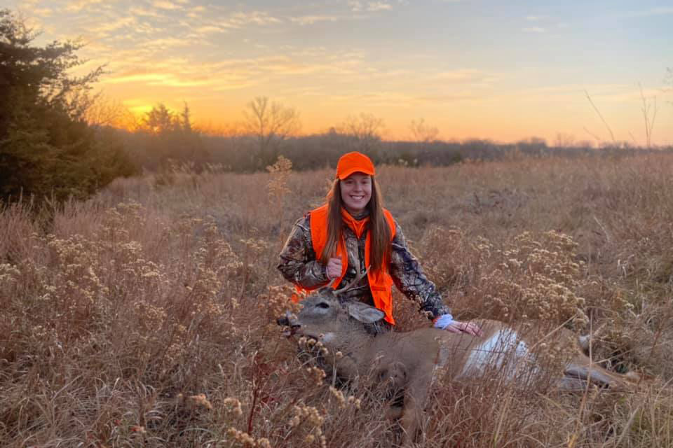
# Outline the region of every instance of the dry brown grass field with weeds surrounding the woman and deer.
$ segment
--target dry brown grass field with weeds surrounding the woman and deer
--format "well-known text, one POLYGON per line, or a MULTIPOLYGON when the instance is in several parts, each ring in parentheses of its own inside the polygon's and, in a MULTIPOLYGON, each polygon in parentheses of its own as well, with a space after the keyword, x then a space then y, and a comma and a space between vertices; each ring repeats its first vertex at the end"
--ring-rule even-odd
MULTIPOLYGON (((673 157, 379 167, 454 314, 594 330, 615 393, 439 379, 423 447, 672 447, 673 157)), ((276 270, 331 171, 118 180, 49 225, 0 214, 4 447, 388 447, 386 403, 280 335, 276 270)), ((401 329, 428 325, 395 293, 401 329)), ((553 357, 553 353, 550 354, 553 357)))

